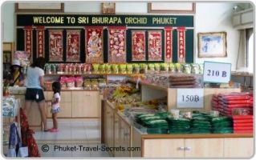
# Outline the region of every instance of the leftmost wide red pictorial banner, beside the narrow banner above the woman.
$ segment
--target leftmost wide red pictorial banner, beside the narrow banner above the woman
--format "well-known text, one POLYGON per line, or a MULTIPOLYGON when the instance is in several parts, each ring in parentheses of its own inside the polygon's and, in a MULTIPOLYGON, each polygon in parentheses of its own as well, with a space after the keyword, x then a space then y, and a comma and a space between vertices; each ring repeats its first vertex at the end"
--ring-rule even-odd
POLYGON ((63 30, 49 30, 49 62, 63 62, 63 30))

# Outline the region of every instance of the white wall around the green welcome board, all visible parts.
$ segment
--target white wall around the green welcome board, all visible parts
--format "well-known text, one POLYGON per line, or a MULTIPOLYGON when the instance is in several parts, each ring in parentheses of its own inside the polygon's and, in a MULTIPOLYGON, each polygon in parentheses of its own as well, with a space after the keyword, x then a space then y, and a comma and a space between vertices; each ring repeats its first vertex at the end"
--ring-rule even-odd
MULTIPOLYGON (((231 62, 235 70, 238 55, 238 30, 232 26, 233 2, 197 2, 195 16, 195 62, 216 61, 231 62), (197 58, 197 33, 199 32, 227 32, 227 58, 197 58)), ((116 2, 116 14, 147 14, 147 2, 116 2), (135 13, 136 12, 136 13, 135 13)), ((100 14, 100 2, 65 2, 67 13, 95 13, 100 14)), ((3 42, 14 42, 14 3, 2 5, 4 24, 3 42)))

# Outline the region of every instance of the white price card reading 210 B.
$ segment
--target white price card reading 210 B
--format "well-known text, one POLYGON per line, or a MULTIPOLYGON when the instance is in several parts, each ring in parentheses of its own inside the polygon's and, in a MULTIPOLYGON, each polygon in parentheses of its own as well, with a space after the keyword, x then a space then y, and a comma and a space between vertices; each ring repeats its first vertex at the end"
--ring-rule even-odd
POLYGON ((231 77, 231 63, 205 62, 204 82, 228 83, 231 77))

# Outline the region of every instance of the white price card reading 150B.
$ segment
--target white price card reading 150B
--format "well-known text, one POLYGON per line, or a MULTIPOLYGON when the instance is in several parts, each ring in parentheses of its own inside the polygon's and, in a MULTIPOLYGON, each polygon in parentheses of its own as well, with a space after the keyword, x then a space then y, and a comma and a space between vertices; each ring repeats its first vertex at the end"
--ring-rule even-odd
POLYGON ((204 89, 177 89, 177 108, 204 108, 204 89))

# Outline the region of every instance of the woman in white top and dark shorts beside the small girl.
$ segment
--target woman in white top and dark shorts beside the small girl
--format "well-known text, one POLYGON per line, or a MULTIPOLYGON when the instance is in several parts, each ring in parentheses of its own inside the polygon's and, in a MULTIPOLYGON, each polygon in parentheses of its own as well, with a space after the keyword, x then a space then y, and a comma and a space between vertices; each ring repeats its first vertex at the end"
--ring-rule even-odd
POLYGON ((39 111, 41 114, 41 119, 43 121, 44 131, 48 131, 47 113, 44 108, 45 98, 43 94, 44 65, 45 59, 40 57, 37 58, 26 71, 25 113, 26 115, 28 114, 32 102, 37 102, 39 104, 39 111))

